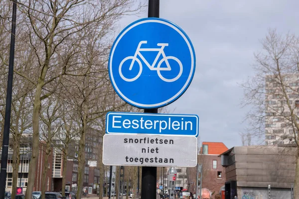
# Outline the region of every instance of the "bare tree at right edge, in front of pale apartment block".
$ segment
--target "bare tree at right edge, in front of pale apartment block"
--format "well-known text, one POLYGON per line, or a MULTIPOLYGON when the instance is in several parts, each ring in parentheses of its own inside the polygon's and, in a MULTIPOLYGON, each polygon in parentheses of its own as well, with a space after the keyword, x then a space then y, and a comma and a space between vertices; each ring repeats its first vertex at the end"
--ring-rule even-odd
MULTIPOLYGON (((251 106, 248 131, 262 143, 266 136, 266 144, 291 142, 298 149, 299 37, 269 30, 262 45, 255 54, 255 76, 242 85, 243 105, 251 106)), ((299 199, 299 151, 296 157, 294 196, 299 199)))

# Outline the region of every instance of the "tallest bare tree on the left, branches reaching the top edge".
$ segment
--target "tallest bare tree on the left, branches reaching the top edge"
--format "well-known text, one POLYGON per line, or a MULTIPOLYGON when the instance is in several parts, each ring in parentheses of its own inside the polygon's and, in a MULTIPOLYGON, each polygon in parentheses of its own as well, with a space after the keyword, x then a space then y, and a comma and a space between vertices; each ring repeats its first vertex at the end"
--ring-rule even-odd
MULTIPOLYGON (((39 137, 39 117, 42 100, 56 92, 65 75, 73 74, 69 62, 75 60, 80 49, 81 32, 100 24, 97 31, 113 31, 114 22, 123 14, 132 13, 135 0, 21 0, 18 8, 25 18, 22 28, 27 32, 28 51, 35 53, 35 64, 30 75, 14 72, 34 86, 32 126, 33 137, 39 137)), ((25 44, 25 43, 24 43, 25 44)), ((107 42, 104 44, 108 44, 107 42)), ((77 60, 78 64, 82 60, 77 60)), ((74 65, 73 65, 74 66, 74 65)), ((75 70, 74 67, 72 70, 75 70)), ((76 74, 84 75, 84 74, 76 74)), ((86 111, 88 102, 82 108, 86 111)), ((85 116, 86 116, 85 112, 85 116)), ((84 117, 85 117, 84 116, 84 117)), ((84 120, 84 119, 83 119, 84 120)), ((83 126, 85 129, 86 126, 83 126)), ((82 142, 85 142, 82 137, 82 142)), ((33 139, 29 163, 26 199, 31 199, 34 173, 39 153, 39 140, 33 139)), ((82 143, 81 143, 82 145, 82 143)), ((79 176, 80 179, 80 176, 79 176)))

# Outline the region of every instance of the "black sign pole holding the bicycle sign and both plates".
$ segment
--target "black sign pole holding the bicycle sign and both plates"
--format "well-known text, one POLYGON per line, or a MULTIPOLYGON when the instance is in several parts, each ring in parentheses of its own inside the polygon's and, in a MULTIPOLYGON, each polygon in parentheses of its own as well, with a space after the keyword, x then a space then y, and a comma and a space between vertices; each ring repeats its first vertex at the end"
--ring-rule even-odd
MULTIPOLYGON (((159 17, 159 0, 149 0, 148 17, 159 17)), ((158 113, 157 108, 145 109, 146 113, 158 113)), ((156 198, 157 167, 142 167, 141 199, 156 198)))

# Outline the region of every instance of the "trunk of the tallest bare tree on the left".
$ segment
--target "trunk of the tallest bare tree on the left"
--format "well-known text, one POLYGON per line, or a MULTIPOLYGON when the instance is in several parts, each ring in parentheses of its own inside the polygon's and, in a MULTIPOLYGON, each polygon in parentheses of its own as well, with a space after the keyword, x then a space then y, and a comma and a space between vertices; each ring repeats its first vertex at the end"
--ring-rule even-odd
POLYGON ((39 153, 39 114, 41 109, 40 103, 40 95, 42 90, 42 84, 39 83, 36 86, 36 92, 33 102, 33 115, 32 115, 32 154, 31 160, 29 162, 29 172, 28 172, 28 184, 26 190, 25 199, 32 199, 32 191, 35 180, 35 170, 36 164, 38 161, 38 153, 39 153))

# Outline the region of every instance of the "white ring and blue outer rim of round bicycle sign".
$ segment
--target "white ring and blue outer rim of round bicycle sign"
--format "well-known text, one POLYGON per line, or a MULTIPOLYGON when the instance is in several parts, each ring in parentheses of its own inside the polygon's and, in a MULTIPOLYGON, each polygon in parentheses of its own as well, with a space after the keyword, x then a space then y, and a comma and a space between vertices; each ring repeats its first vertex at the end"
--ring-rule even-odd
POLYGON ((108 71, 109 71, 109 76, 110 76, 110 80, 111 80, 111 83, 112 83, 112 86, 114 88, 114 90, 116 91, 116 93, 123 99, 125 100, 126 102, 130 103, 131 105, 133 106, 136 106, 136 107, 139 107, 139 108, 158 108, 158 107, 162 107, 162 106, 165 106, 165 105, 168 105, 170 103, 172 103, 173 101, 177 100, 186 90, 187 88, 189 87, 192 79, 193 79, 193 76, 194 76, 194 73, 195 73, 195 52, 194 52, 194 48, 193 48, 193 45, 189 39, 189 37, 187 36, 187 34, 180 28, 178 27, 176 24, 168 21, 168 20, 165 20, 165 19, 162 19, 162 18, 154 18, 154 17, 150 17, 150 18, 143 18, 143 19, 140 19, 140 20, 137 20, 133 23, 131 23, 130 25, 128 25, 119 35, 118 37, 116 38, 115 42, 113 43, 112 45, 112 50, 110 51, 110 56, 109 56, 109 61, 108 61, 108 71), (165 25, 168 25, 169 27, 173 28, 174 30, 176 30, 182 37, 183 39, 185 40, 188 48, 189 48, 189 51, 190 51, 190 56, 191 56, 191 69, 190 69, 190 74, 188 76, 188 79, 185 83, 185 85, 182 87, 182 89, 177 93, 175 94, 172 98, 168 99, 168 100, 165 100, 165 101, 162 101, 160 103, 154 103, 154 104, 143 104, 143 103, 138 103, 138 102, 135 102, 133 100, 130 100, 128 99, 120 90, 119 88, 117 87, 117 85, 115 84, 115 81, 114 81, 114 77, 113 77, 113 73, 112 73, 112 61, 113 61, 113 55, 114 55, 114 51, 115 51, 115 48, 117 46, 117 44, 119 43, 120 39, 132 28, 134 28, 135 26, 137 25, 140 25, 140 24, 143 24, 143 23, 149 23, 149 22, 155 22, 155 23, 162 23, 162 24, 165 24, 165 25))

